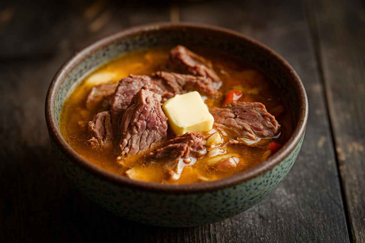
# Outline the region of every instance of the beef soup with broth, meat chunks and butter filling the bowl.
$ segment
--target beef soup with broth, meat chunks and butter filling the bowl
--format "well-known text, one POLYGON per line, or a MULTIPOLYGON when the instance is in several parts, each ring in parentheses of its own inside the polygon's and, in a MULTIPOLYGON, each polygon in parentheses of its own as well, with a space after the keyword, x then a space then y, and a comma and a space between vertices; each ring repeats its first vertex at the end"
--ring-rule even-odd
POLYGON ((156 183, 214 181, 263 163, 292 133, 283 94, 244 60, 191 50, 133 51, 93 71, 64 103, 62 136, 100 168, 156 183))

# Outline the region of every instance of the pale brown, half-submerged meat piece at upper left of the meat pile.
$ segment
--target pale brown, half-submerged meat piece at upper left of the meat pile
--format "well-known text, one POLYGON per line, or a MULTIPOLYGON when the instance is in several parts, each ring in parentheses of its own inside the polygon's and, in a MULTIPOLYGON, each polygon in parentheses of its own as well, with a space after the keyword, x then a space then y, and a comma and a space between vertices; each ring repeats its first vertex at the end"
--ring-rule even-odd
POLYGON ((114 94, 116 86, 118 83, 106 83, 92 87, 86 99, 86 107, 93 110, 100 105, 102 110, 108 110, 109 98, 114 94))

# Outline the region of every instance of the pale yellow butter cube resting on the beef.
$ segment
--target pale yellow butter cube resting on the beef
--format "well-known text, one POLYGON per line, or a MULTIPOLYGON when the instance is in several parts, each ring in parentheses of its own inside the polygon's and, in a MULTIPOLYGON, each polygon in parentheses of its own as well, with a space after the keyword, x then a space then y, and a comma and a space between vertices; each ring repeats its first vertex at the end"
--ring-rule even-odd
POLYGON ((175 95, 162 106, 168 123, 176 135, 212 130, 214 118, 197 91, 175 95))

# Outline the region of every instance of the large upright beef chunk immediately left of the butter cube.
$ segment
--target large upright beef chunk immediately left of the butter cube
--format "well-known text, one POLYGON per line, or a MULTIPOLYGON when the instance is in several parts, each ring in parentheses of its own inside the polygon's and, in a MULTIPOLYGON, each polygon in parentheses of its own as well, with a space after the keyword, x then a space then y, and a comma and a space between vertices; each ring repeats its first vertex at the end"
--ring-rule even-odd
POLYGON ((137 154, 153 148, 167 137, 167 117, 161 109, 161 95, 142 87, 120 121, 120 153, 137 154))

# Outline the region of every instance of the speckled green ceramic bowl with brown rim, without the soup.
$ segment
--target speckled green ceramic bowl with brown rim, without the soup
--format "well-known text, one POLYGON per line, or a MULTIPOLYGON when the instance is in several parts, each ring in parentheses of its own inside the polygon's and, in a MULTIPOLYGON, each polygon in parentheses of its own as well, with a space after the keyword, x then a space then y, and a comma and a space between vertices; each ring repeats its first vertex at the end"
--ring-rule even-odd
POLYGON ((77 52, 55 75, 46 98, 46 122, 55 155, 76 187, 104 208, 141 223, 187 227, 214 223, 261 201, 283 181, 302 144, 308 117, 303 84, 268 47, 230 30, 187 23, 156 23, 124 30, 77 52), (59 112, 74 87, 101 64, 129 51, 155 46, 201 46, 239 56, 272 78, 289 100, 295 130, 268 160, 219 181, 165 185, 114 175, 78 155, 59 132, 59 112))

